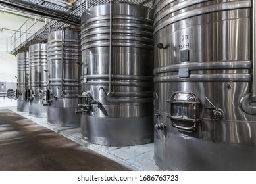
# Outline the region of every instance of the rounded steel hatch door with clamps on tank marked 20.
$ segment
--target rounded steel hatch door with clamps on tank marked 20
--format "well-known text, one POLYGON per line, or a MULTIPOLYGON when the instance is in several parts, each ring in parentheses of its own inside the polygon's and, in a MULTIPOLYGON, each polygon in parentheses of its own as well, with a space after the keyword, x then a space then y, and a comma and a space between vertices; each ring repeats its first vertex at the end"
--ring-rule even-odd
POLYGON ((199 124, 199 99, 191 92, 175 92, 170 100, 172 126, 179 131, 193 132, 199 124))

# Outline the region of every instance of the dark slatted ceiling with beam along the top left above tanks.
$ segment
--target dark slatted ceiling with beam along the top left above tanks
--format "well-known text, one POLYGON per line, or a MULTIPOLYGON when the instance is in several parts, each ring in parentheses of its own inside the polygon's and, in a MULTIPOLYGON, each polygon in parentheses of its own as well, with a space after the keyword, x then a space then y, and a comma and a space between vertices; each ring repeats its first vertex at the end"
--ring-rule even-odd
MULTIPOLYGON (((126 0, 152 7, 152 0, 126 0)), ((90 7, 109 3, 109 0, 0 0, 0 5, 30 14, 80 26, 82 12, 90 7)))

